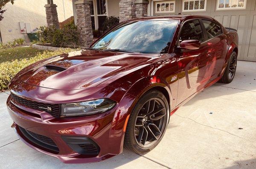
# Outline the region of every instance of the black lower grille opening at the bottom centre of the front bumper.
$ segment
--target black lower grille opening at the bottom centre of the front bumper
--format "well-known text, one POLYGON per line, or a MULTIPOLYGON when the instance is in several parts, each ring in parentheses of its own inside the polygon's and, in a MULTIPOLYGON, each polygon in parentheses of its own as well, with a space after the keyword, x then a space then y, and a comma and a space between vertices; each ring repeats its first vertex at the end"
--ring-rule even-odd
POLYGON ((23 129, 22 127, 18 126, 20 129, 20 132, 29 139, 32 143, 35 143, 38 146, 44 147, 46 149, 52 150, 54 152, 59 152, 58 146, 54 143, 54 141, 46 136, 38 135, 34 132, 30 132, 26 129, 23 129))

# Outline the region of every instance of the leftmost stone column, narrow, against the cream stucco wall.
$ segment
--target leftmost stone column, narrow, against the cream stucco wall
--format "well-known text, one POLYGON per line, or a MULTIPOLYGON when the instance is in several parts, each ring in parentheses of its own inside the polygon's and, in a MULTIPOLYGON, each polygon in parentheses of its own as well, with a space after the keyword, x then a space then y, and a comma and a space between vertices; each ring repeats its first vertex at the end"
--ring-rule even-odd
POLYGON ((58 22, 58 13, 57 13, 57 6, 53 3, 46 4, 46 22, 47 26, 55 26, 55 28, 59 29, 60 25, 58 22))

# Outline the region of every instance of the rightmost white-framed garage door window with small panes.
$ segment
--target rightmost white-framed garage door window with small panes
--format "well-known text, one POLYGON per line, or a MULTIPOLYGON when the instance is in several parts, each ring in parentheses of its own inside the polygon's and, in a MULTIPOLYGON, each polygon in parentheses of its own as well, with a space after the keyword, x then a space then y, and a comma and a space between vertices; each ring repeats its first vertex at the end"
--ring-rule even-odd
POLYGON ((245 9, 246 0, 218 0, 218 10, 245 9))

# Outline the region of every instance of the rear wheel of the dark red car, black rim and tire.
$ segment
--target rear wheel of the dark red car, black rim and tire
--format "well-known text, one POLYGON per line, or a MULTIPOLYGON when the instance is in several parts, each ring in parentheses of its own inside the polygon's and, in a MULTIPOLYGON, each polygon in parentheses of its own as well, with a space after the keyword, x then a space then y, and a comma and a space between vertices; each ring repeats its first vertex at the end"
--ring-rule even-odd
POLYGON ((227 63, 227 67, 221 79, 218 81, 220 83, 231 83, 236 74, 236 64, 237 64, 237 54, 232 52, 230 59, 227 63))

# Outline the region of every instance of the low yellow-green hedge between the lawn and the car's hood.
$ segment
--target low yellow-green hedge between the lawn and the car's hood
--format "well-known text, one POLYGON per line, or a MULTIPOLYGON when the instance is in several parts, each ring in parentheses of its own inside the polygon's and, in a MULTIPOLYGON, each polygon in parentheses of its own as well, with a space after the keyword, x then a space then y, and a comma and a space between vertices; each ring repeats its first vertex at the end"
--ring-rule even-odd
POLYGON ((31 57, 29 59, 22 60, 14 60, 12 62, 3 62, 0 63, 0 90, 7 89, 8 83, 12 80, 12 78, 20 72, 21 69, 29 66, 32 63, 35 63, 39 60, 52 57, 54 55, 59 55, 67 52, 75 51, 76 49, 60 49, 58 51, 50 52, 44 51, 44 53, 38 54, 35 57, 31 57))

